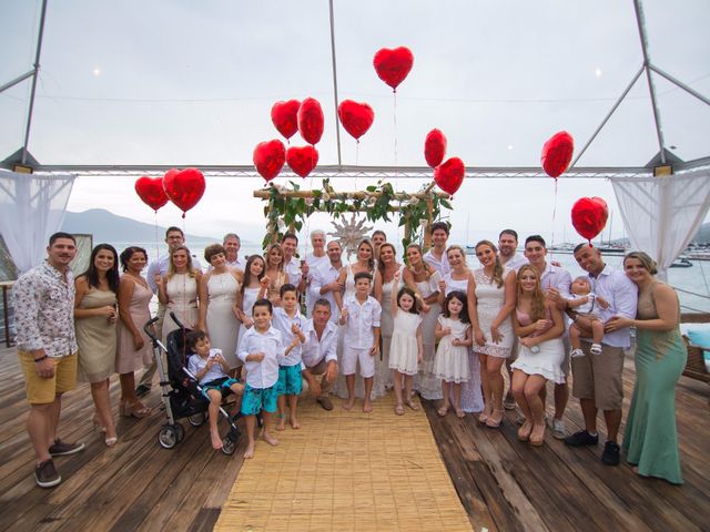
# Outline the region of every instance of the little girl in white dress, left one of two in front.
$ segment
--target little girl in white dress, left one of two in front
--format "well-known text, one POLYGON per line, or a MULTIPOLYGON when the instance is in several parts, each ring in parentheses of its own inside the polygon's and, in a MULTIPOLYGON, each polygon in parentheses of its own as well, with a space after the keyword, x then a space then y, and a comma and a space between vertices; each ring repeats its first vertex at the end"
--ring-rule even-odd
MULTIPOLYGON (((399 276, 400 272, 396 272, 395 286, 399 284, 399 276)), ((415 294, 410 288, 393 289, 389 300, 394 317, 389 345, 389 369, 392 369, 395 397, 397 398, 395 413, 402 416, 404 415, 404 405, 407 405, 412 410, 419 410, 419 406, 412 400, 412 387, 424 355, 422 317, 417 309, 415 294)))

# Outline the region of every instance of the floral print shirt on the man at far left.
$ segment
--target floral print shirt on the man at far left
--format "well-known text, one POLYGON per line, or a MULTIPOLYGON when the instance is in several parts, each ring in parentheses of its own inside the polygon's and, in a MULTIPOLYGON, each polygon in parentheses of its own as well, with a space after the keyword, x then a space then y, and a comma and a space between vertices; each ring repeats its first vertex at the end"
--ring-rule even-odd
POLYGON ((22 275, 12 287, 18 348, 44 349, 50 357, 77 352, 74 276, 67 278, 44 262, 22 275))

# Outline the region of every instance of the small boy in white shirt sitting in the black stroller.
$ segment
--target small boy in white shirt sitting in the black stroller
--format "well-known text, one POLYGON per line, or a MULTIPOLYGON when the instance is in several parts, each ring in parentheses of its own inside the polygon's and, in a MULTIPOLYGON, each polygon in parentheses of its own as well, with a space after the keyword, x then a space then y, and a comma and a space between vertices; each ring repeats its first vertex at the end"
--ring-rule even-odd
POLYGON ((187 361, 187 370, 195 376, 202 387, 202 393, 210 400, 210 438, 214 449, 222 449, 222 438, 217 429, 222 398, 234 393, 236 411, 244 385, 229 377, 230 365, 222 356, 222 349, 212 348, 210 338, 202 330, 192 330, 185 338, 187 349, 194 352, 187 361))

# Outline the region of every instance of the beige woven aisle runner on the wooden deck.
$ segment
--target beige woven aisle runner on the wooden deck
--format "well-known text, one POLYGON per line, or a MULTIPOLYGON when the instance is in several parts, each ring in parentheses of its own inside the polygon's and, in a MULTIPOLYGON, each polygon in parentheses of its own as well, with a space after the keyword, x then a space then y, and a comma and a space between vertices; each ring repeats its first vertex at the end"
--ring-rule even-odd
POLYGON ((257 440, 214 530, 471 530, 424 410, 395 416, 392 393, 371 415, 333 402, 308 396, 300 430, 257 440))

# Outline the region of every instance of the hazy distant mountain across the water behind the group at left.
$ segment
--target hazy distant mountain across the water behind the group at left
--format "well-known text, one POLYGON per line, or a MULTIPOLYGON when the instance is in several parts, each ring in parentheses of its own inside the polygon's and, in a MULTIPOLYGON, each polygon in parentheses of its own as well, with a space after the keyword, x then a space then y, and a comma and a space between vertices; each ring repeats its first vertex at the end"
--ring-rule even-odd
MULTIPOLYGON (((168 227, 158 227, 160 238, 168 227)), ((92 234, 94 244, 100 242, 153 242, 155 226, 118 216, 104 208, 91 208, 83 213, 67 211, 62 229, 72 234, 92 234)), ((186 235, 191 244, 210 244, 221 242, 220 237, 186 235)))

